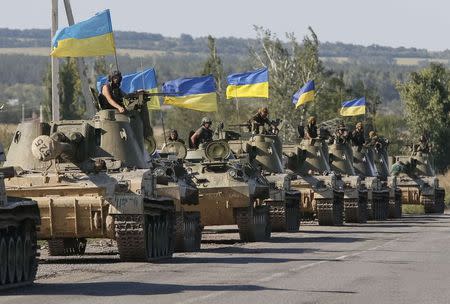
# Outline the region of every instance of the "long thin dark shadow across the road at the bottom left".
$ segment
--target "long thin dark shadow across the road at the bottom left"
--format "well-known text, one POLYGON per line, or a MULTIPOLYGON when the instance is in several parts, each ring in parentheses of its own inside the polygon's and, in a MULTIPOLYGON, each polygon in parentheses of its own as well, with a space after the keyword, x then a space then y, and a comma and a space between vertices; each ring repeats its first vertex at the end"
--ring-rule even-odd
POLYGON ((2 295, 86 295, 99 297, 126 295, 163 295, 186 291, 263 291, 288 290, 266 288, 258 285, 178 285, 141 282, 86 282, 86 283, 36 283, 20 291, 9 291, 2 295))

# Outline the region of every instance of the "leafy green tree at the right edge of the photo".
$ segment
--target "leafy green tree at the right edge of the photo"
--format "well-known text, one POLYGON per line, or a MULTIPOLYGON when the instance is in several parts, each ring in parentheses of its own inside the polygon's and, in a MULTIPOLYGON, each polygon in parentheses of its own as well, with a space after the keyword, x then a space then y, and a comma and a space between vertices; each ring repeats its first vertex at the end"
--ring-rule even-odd
POLYGON ((406 108, 406 122, 414 137, 424 134, 430 140, 436 167, 450 164, 450 72, 441 64, 412 72, 397 88, 406 108))

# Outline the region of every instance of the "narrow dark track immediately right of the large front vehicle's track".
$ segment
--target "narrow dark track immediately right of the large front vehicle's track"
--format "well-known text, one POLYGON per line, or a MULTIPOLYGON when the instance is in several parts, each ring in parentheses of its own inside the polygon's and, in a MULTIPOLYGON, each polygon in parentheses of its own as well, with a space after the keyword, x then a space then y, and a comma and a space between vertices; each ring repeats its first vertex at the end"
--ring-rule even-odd
POLYGON ((177 212, 175 225, 175 251, 199 251, 202 240, 200 212, 177 212))

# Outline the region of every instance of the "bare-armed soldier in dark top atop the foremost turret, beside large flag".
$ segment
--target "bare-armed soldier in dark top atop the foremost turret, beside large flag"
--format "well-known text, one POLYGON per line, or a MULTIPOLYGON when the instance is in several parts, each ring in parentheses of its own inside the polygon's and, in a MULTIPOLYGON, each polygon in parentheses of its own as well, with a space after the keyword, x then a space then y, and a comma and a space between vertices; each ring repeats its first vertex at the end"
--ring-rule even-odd
POLYGON ((116 109, 119 113, 125 112, 123 105, 124 92, 120 89, 122 74, 114 71, 108 76, 108 82, 101 88, 99 102, 102 109, 116 109))

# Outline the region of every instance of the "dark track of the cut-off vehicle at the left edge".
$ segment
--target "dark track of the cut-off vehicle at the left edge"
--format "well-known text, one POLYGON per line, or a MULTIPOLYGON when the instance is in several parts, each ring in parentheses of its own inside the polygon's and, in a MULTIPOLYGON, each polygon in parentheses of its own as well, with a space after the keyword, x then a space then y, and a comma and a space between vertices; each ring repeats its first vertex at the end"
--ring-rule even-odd
POLYGON ((38 267, 37 248, 34 221, 0 229, 0 290, 33 283, 38 267))

